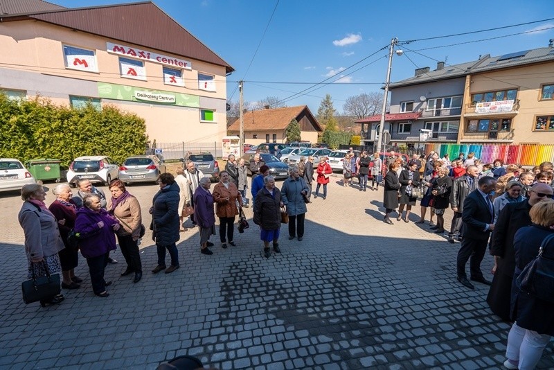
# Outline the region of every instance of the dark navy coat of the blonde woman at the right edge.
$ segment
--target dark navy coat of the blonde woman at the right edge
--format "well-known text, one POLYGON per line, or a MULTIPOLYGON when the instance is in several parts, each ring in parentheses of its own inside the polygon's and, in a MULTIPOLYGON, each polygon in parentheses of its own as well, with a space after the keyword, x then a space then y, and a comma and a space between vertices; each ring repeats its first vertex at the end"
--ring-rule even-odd
MULTIPOLYGON (((512 319, 517 321, 517 326, 521 328, 546 335, 554 335, 554 303, 535 299, 529 294, 520 292, 515 285, 515 279, 520 271, 537 256, 542 240, 553 232, 546 227, 533 225, 519 229, 514 236, 517 268, 512 284, 512 319)), ((554 240, 548 243, 542 256, 554 259, 554 240)))

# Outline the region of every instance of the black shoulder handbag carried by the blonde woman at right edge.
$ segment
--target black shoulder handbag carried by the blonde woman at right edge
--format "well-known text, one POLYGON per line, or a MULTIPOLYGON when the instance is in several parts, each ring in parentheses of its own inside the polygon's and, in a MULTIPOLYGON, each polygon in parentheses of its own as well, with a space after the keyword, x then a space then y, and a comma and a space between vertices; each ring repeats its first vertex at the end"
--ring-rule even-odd
POLYGON ((551 303, 554 303, 554 260, 543 257, 542 253, 553 238, 551 234, 542 240, 539 255, 525 266, 515 281, 521 292, 551 303))

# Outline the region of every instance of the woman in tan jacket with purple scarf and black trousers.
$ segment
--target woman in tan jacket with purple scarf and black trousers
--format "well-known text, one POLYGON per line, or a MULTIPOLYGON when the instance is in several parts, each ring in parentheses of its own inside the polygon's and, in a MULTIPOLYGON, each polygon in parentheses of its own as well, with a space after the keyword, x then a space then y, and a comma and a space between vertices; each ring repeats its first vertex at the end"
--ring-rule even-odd
POLYGON ((121 276, 127 276, 134 272, 133 283, 138 283, 143 277, 143 265, 139 253, 139 237, 141 234, 142 215, 141 204, 136 197, 125 188, 125 184, 118 179, 109 183, 111 200, 108 202, 109 214, 119 220, 117 240, 121 253, 127 262, 127 268, 121 276))

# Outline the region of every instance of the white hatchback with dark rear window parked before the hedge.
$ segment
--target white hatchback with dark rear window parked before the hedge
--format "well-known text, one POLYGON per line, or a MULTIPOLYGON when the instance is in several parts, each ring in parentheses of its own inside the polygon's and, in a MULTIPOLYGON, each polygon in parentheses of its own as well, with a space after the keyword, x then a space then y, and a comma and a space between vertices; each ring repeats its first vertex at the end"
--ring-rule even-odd
POLYGON ((78 179, 89 179, 92 183, 104 183, 119 177, 119 166, 114 159, 105 155, 78 157, 71 162, 67 170, 67 182, 75 187, 78 179))

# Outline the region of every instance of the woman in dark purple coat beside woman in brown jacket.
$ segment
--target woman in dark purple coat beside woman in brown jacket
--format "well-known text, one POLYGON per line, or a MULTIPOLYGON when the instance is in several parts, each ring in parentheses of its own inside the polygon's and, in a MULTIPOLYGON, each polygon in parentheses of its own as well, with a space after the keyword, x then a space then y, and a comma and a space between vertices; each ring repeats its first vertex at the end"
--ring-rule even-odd
POLYGON ((195 191, 195 206, 197 223, 200 234, 200 253, 210 256, 213 252, 208 249, 210 236, 215 235, 215 215, 213 213, 213 196, 210 193, 211 181, 209 177, 200 179, 200 186, 195 191))

